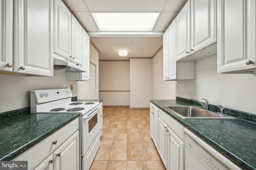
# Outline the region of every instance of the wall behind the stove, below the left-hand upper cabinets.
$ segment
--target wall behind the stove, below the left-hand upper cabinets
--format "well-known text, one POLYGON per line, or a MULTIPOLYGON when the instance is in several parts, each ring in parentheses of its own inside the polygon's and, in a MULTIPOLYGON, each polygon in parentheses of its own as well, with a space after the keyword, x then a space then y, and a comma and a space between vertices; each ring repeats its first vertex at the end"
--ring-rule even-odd
MULTIPOLYGON (((63 84, 70 88, 74 83, 65 80, 65 69, 54 70, 54 77, 0 74, 0 113, 30 107, 30 90, 63 88, 63 84)), ((72 94, 77 95, 76 89, 72 94)))

